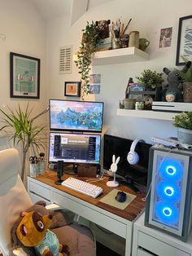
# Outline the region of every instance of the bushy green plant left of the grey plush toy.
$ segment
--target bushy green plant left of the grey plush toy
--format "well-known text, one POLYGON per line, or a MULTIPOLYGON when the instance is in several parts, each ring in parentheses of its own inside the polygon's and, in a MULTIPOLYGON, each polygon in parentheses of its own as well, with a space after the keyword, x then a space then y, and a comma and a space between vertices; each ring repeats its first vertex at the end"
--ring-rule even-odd
POLYGON ((157 86, 161 86, 164 79, 162 77, 163 73, 157 73, 156 71, 151 71, 151 69, 144 69, 141 73, 141 77, 136 77, 138 83, 145 86, 145 90, 155 90, 157 86))

